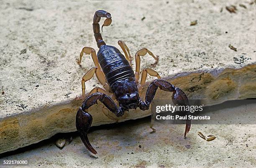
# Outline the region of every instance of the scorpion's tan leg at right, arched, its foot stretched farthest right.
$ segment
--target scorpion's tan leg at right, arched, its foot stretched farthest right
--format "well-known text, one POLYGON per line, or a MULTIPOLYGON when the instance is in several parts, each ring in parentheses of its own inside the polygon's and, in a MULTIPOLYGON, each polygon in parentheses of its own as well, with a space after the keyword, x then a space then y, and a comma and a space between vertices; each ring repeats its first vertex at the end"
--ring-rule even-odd
POLYGON ((141 69, 141 58, 140 58, 140 56, 144 56, 144 55, 146 55, 146 53, 151 55, 156 60, 156 62, 154 64, 157 64, 157 62, 158 62, 159 58, 154 56, 154 54, 151 51, 149 51, 148 49, 143 48, 143 49, 138 50, 138 52, 136 52, 136 54, 135 54, 135 61, 136 61, 135 78, 136 78, 136 82, 138 82, 138 80, 140 78, 140 69, 141 69))

